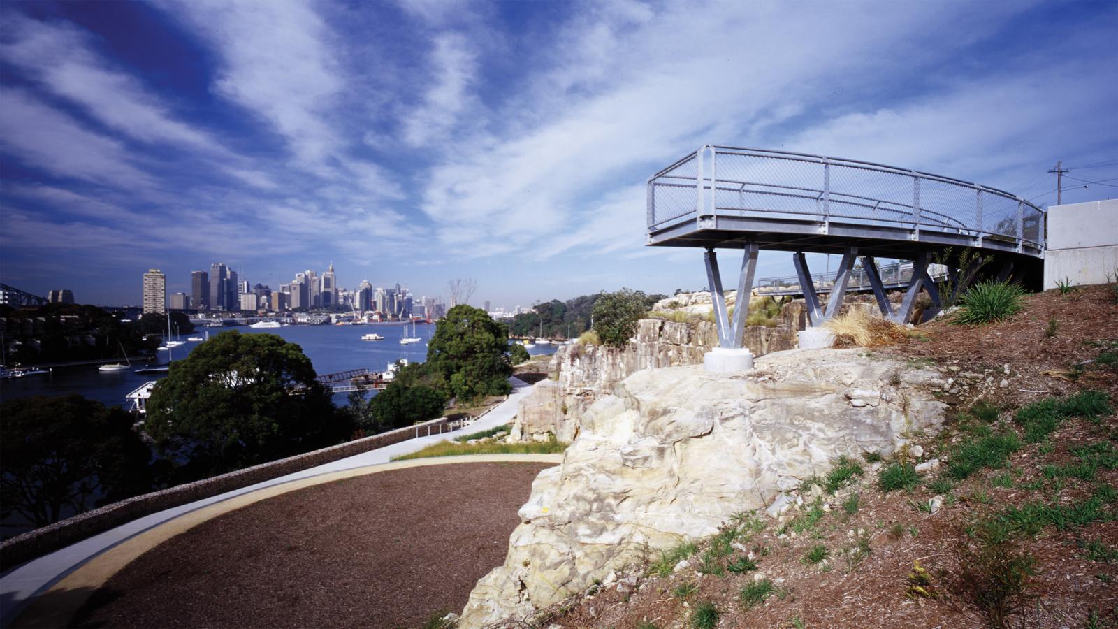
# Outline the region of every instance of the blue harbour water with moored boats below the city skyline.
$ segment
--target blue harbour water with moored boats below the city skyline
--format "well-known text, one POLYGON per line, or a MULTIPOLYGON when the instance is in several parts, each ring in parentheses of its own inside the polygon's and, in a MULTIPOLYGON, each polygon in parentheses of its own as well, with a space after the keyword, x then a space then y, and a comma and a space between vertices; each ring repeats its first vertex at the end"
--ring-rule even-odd
MULTIPOLYGON (((404 337, 405 326, 399 325, 375 325, 375 326, 284 326, 282 328, 253 329, 247 326, 227 328, 198 328, 191 335, 182 335, 181 340, 186 341, 187 336, 206 336, 209 330, 210 337, 222 331, 235 329, 241 334, 273 334, 283 337, 290 342, 299 344, 303 348, 303 354, 311 359, 314 370, 319 375, 345 372, 349 369, 360 369, 362 367, 373 372, 383 372, 390 363, 400 358, 407 358, 413 363, 421 363, 427 357, 427 341, 430 335, 435 334, 435 326, 427 323, 416 325, 416 336, 421 338, 421 342, 400 345, 404 337), (361 336, 376 332, 383 340, 361 340, 361 336)), ((408 334, 411 328, 408 326, 408 334)), ((172 358, 179 360, 184 358, 199 342, 187 341, 179 347, 171 349, 172 358)), ((553 354, 555 345, 537 345, 529 348, 531 355, 553 354)), ((168 353, 160 351, 158 358, 152 363, 167 363, 168 353)), ((91 400, 96 400, 106 405, 126 406, 124 396, 149 381, 165 377, 164 374, 136 374, 135 369, 143 367, 142 364, 132 363, 132 367, 120 372, 100 372, 95 365, 83 365, 78 367, 56 367, 50 374, 27 376, 16 379, 0 381, 0 398, 10 400, 17 397, 28 397, 31 395, 64 395, 67 393, 79 393, 91 400)), ((345 403, 345 394, 334 395, 335 404, 345 403)))

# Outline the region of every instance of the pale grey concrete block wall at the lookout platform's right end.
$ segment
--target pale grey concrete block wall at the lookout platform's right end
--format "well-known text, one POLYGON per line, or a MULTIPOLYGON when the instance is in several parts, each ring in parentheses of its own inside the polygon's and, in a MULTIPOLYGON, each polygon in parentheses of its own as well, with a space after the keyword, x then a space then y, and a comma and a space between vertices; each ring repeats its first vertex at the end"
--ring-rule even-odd
POLYGON ((1054 205, 1048 210, 1044 289, 1118 281, 1118 199, 1054 205))

